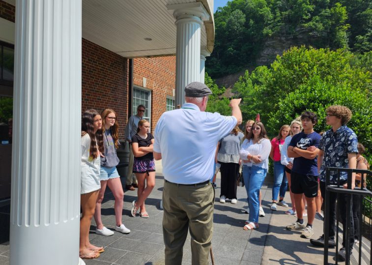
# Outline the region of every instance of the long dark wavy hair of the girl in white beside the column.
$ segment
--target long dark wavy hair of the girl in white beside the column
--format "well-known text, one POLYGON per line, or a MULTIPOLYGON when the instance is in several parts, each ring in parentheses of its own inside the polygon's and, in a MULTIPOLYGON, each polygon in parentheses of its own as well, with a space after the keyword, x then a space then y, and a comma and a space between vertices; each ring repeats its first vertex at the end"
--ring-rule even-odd
POLYGON ((82 137, 86 134, 90 137, 90 147, 89 147, 89 156, 96 159, 98 156, 98 150, 103 153, 103 137, 102 137, 102 130, 97 130, 94 134, 94 117, 99 115, 96 110, 90 109, 86 110, 82 116, 82 137), (98 146, 98 150, 97 150, 98 146))

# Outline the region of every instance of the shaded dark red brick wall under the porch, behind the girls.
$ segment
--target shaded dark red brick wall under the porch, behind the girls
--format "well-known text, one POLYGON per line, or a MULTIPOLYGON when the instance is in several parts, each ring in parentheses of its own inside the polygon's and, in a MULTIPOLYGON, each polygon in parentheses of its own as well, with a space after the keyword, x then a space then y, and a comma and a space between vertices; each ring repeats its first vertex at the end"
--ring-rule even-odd
POLYGON ((113 109, 118 116, 119 139, 128 120, 129 59, 82 39, 82 112, 113 109))

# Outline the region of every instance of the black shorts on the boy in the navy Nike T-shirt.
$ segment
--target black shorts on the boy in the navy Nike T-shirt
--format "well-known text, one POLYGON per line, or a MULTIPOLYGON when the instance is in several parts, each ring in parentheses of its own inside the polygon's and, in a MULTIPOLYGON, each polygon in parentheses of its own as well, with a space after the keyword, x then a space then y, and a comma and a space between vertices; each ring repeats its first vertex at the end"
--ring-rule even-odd
POLYGON ((290 174, 290 190, 294 194, 305 194, 308 198, 318 196, 318 176, 290 174))

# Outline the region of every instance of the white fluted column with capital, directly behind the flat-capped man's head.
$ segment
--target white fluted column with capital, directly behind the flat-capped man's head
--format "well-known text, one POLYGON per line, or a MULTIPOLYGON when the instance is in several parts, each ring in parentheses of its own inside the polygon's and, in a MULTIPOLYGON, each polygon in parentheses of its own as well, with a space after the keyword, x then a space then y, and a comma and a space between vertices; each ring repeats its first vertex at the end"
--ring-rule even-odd
POLYGON ((209 14, 201 2, 170 4, 176 19, 176 106, 185 102, 185 87, 200 82, 200 26, 209 14))

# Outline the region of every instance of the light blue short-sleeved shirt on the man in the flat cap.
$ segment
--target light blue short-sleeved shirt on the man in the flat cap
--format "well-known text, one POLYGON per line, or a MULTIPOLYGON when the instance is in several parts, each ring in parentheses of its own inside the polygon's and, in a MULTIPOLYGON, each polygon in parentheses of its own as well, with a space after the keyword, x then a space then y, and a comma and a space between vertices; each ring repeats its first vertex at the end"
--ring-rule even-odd
POLYGON ((154 151, 162 154, 164 178, 179 184, 209 180, 217 142, 236 124, 233 116, 201 112, 192 103, 163 113, 154 131, 154 151))

